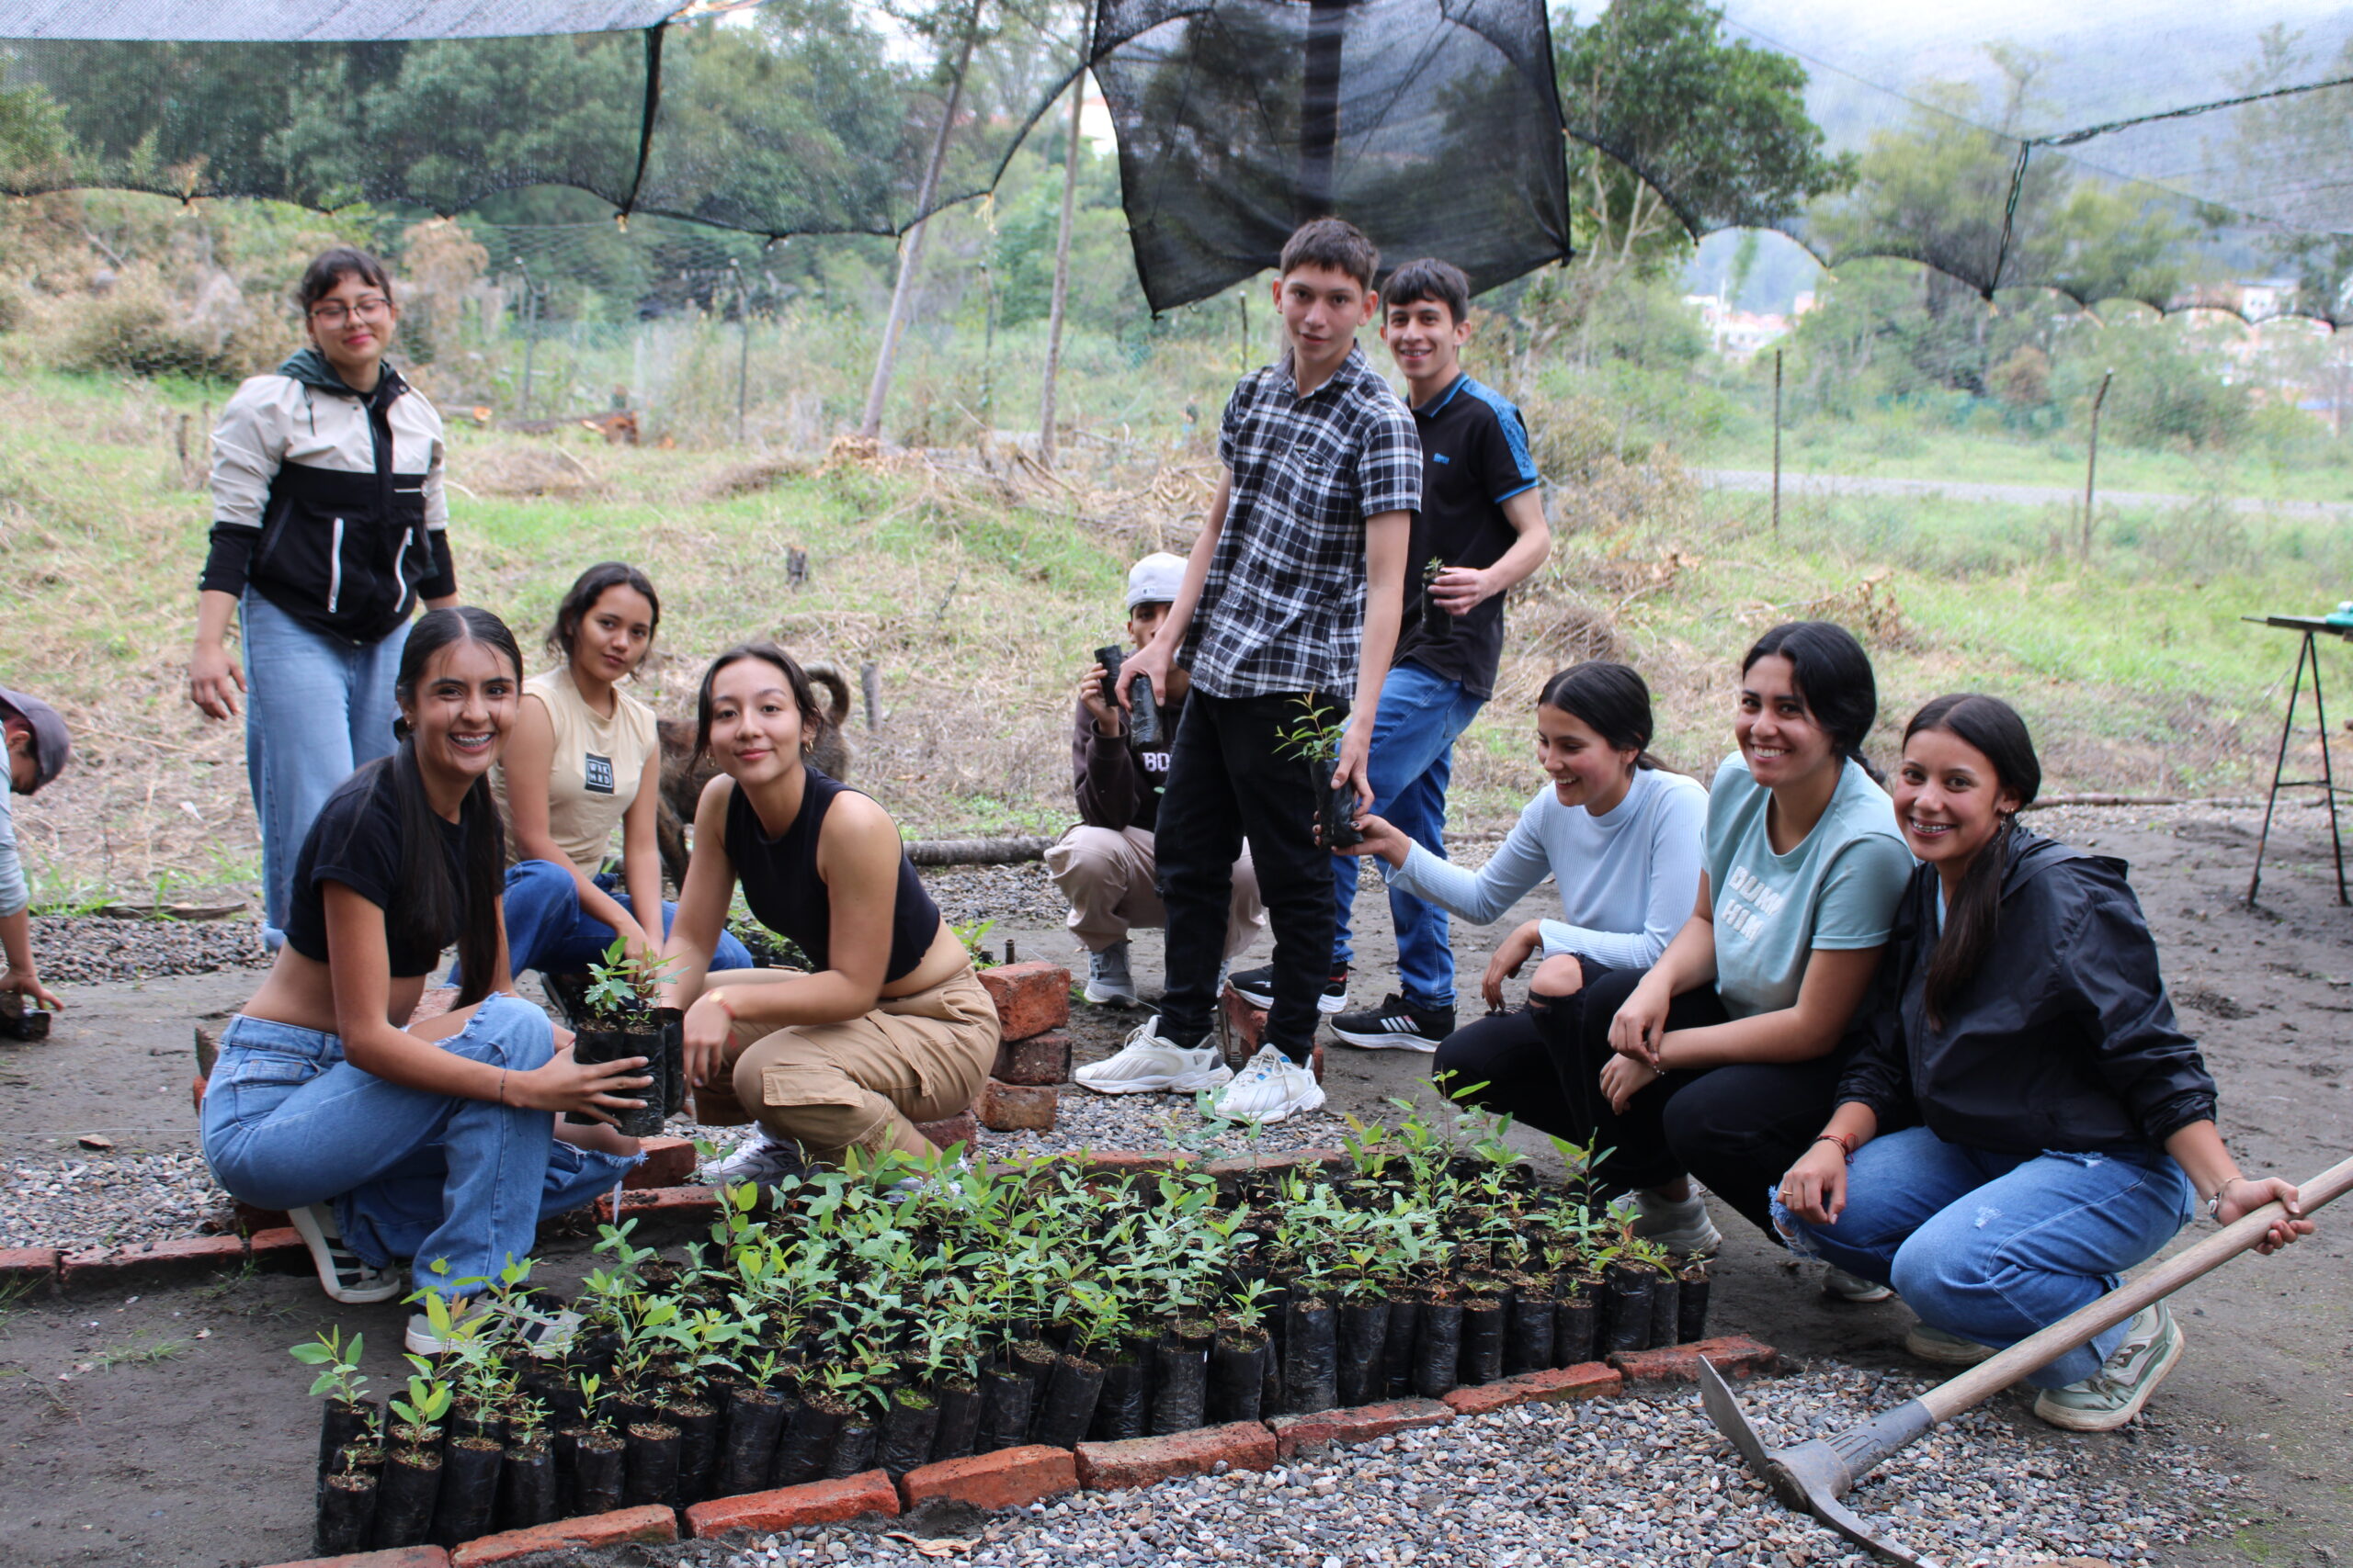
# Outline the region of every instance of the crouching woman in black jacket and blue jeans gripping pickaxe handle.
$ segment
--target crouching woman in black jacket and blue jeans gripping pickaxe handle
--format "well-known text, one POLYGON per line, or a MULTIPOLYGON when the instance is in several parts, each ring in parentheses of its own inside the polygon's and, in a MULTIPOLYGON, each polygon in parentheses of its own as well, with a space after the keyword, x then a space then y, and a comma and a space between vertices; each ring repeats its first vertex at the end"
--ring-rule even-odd
MULTIPOLYGON (((1906 1347, 1955 1366, 2113 1291, 2193 1206, 2299 1213, 2214 1133, 2125 865, 2019 827, 2040 783, 2000 698, 1941 696, 1904 731, 1894 804, 1922 865, 1838 1112, 1774 1201, 1795 1251, 1892 1284, 1920 1314, 1906 1347)), ((2311 1229, 2282 1218, 2261 1251, 2311 1229)), ((2158 1302, 2031 1373, 2035 1415, 2122 1427, 2179 1356, 2158 1302)))

